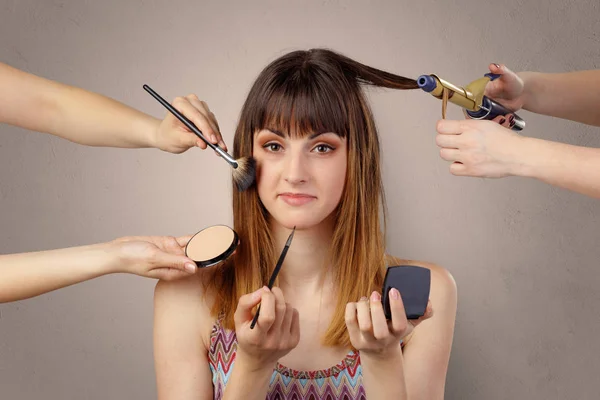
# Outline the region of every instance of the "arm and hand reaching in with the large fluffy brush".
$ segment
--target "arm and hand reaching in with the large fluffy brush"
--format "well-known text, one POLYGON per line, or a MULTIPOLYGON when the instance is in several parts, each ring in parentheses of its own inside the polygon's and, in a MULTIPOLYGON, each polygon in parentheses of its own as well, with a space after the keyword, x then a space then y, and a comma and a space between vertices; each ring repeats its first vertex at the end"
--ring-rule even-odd
MULTIPOLYGON (((220 142, 226 149, 216 119, 206 103, 189 95, 177 98, 173 105, 206 137, 215 135, 213 143, 220 142)), ((87 146, 155 147, 171 153, 181 153, 193 146, 206 148, 179 120, 166 114, 161 121, 100 94, 0 63, 2 123, 50 133, 87 146)))

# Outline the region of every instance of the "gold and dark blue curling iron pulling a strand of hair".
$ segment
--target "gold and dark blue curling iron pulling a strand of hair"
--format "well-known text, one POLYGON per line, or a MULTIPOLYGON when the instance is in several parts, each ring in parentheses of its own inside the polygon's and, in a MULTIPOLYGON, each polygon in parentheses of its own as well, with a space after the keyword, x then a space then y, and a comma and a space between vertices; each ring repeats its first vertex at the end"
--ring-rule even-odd
MULTIPOLYGON (((500 115, 511 120, 510 117, 513 116, 510 129, 521 131, 525 128, 523 118, 483 94, 488 82, 499 77, 499 74, 485 74, 483 78, 479 78, 461 88, 439 78, 437 75, 431 74, 421 75, 417 79, 417 84, 432 96, 444 101, 447 98, 449 102, 462 107, 468 118, 491 120, 500 115)), ((445 103, 443 109, 445 110, 445 103)))

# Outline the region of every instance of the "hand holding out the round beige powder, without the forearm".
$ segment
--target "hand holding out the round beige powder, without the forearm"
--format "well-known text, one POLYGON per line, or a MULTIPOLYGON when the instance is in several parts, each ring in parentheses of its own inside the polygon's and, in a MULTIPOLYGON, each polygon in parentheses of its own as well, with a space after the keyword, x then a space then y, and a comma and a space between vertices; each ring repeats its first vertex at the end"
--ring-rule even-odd
POLYGON ((107 245, 119 260, 116 272, 170 281, 196 272, 195 262, 184 251, 190 239, 191 236, 128 236, 107 245))

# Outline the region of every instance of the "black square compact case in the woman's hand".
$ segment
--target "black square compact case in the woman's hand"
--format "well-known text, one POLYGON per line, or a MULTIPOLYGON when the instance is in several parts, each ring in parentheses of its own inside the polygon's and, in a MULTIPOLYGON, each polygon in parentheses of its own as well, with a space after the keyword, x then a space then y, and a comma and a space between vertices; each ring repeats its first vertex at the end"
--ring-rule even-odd
POLYGON ((400 292, 406 318, 418 319, 425 314, 431 287, 431 271, 429 268, 414 265, 397 265, 388 267, 383 281, 382 302, 387 319, 392 319, 390 312, 390 289, 400 292))

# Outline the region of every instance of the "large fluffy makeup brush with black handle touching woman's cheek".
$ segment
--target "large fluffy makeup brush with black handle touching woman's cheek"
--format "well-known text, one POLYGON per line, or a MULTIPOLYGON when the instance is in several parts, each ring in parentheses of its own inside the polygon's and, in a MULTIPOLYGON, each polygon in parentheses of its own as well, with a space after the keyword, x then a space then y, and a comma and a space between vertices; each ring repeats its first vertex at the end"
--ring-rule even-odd
POLYGON ((177 109, 175 109, 172 105, 170 105, 165 99, 163 99, 158 93, 156 93, 150 86, 144 85, 144 90, 152 95, 160 104, 162 104, 167 110, 171 112, 174 116, 177 117, 189 130, 194 132, 196 136, 204 141, 211 149, 216 151, 225 161, 229 163, 233 167, 233 181, 237 189, 240 192, 248 189, 252 186, 254 179, 256 178, 256 160, 254 157, 242 157, 240 159, 234 160, 225 150, 221 149, 219 146, 215 146, 211 142, 208 141, 194 125, 192 121, 187 119, 183 114, 181 114, 177 109))

